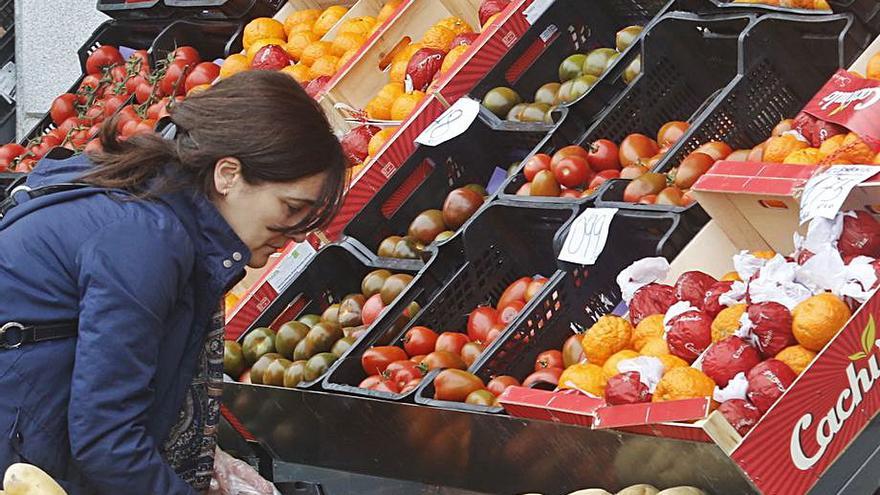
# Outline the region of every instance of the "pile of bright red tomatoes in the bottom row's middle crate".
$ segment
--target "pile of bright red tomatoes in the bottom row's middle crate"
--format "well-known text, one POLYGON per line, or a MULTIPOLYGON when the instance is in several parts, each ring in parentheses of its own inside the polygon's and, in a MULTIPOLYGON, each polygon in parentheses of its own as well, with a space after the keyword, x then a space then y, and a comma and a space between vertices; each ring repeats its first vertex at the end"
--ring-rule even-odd
MULTIPOLYGON (((428 371, 454 370, 453 376, 466 378, 471 385, 479 382, 479 387, 469 390, 464 396, 460 391, 458 395, 449 395, 447 391, 459 388, 458 382, 453 381, 455 384, 447 387, 445 380, 439 383, 435 381, 437 398, 464 401, 470 392, 486 388, 482 380, 464 370, 476 362, 486 346, 501 335, 546 283, 547 279, 540 275, 515 280, 505 288, 494 307, 477 306, 468 314, 466 332, 438 334, 428 327, 414 326, 404 334, 402 347, 388 345, 367 349, 361 357, 361 366, 367 378, 358 386, 394 394, 407 393, 421 383, 428 371), (476 381, 473 381, 474 378, 476 381)), ((449 373, 441 373, 438 379, 440 376, 446 377, 449 373)), ((502 391, 503 388, 498 394, 502 391)))

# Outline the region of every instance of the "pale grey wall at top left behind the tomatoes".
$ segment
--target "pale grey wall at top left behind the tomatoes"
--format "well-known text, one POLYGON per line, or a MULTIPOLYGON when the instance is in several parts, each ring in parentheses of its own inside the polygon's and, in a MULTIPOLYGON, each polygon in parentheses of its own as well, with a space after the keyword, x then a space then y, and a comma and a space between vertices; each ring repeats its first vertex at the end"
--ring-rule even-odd
POLYGON ((80 76, 76 51, 107 16, 96 0, 15 0, 17 129, 21 138, 80 76))

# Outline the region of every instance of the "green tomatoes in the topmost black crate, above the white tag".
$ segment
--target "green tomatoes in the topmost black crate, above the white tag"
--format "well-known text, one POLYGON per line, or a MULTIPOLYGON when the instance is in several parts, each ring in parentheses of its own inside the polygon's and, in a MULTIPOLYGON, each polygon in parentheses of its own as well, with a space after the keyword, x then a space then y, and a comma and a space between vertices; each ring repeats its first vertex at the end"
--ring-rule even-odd
MULTIPOLYGON (((559 82, 544 84, 532 102, 524 102, 515 90, 499 86, 483 97, 483 106, 502 119, 513 122, 552 123, 552 110, 572 103, 583 96, 602 77, 617 57, 629 48, 642 32, 642 26, 629 26, 617 32, 615 48, 596 48, 589 53, 575 53, 559 64, 559 82)), ((629 84, 639 74, 641 62, 636 58, 624 71, 629 84)))

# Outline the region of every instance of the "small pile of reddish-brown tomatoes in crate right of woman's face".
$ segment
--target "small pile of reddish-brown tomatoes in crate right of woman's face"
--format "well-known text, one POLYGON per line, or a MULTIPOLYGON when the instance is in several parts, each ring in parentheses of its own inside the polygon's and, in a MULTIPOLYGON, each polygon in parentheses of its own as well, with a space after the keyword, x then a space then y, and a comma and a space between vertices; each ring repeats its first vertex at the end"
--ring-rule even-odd
POLYGON ((389 236, 377 249, 379 256, 388 258, 419 259, 425 246, 443 242, 455 235, 487 197, 479 184, 468 184, 453 189, 443 201, 442 210, 425 210, 410 223, 406 236, 389 236))

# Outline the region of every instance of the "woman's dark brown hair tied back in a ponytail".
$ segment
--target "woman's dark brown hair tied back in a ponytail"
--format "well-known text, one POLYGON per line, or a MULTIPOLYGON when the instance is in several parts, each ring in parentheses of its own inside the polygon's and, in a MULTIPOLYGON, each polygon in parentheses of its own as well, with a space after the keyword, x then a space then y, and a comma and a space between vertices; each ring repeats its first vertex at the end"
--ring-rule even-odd
POLYGON ((116 120, 106 122, 103 149, 89 154, 96 166, 83 180, 145 198, 185 188, 213 197, 217 161, 234 157, 250 184, 326 174, 312 212, 289 232, 321 228, 338 211, 347 177, 342 146, 320 106, 287 74, 236 74, 174 103, 170 118, 173 139, 146 133, 123 140, 116 120))

